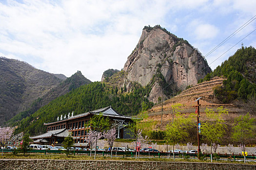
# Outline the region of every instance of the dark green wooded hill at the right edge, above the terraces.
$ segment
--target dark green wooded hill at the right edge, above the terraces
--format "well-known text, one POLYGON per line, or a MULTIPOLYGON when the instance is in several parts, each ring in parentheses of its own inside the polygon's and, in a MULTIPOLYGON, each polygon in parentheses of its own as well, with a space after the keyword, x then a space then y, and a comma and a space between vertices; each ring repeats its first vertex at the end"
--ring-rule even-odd
MULTIPOLYGON (((256 97, 256 49, 242 47, 236 53, 218 66, 203 80, 208 81, 214 76, 224 76, 222 86, 217 86, 215 95, 222 103, 229 103, 236 99, 244 101, 256 97)), ((198 83, 202 82, 198 81, 198 83)))

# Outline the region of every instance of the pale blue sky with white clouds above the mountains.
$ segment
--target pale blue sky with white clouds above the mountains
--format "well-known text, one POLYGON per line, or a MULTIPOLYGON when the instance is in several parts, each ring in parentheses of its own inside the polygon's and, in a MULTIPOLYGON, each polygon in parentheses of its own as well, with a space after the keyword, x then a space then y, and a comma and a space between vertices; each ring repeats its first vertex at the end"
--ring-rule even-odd
MULTIPOLYGON (((105 70, 123 68, 146 25, 166 28, 206 56, 255 15, 256 0, 0 0, 0 56, 100 81, 105 70)), ((206 56, 210 67, 242 43, 256 47, 255 29, 256 19, 206 56)))

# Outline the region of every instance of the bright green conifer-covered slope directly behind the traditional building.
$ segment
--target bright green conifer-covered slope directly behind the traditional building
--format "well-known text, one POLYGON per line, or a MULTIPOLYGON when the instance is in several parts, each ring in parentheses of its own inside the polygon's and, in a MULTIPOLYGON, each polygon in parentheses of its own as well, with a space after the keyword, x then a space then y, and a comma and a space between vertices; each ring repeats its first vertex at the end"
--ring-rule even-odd
POLYGON ((100 82, 82 85, 13 124, 18 125, 15 133, 30 131, 31 135, 38 135, 46 130, 44 122, 56 121, 61 114, 74 111, 74 115, 77 115, 109 105, 123 115, 136 115, 140 111, 141 101, 145 101, 150 108, 153 106, 144 96, 147 96, 146 89, 136 83, 129 94, 100 82))

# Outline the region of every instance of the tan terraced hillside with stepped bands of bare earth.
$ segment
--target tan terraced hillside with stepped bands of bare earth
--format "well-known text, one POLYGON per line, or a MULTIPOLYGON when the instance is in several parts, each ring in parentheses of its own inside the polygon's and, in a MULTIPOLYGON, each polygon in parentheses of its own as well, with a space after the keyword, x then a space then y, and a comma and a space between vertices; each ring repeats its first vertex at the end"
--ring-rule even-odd
POLYGON ((181 110, 181 113, 192 113, 195 112, 195 108, 193 105, 197 105, 197 98, 201 97, 199 103, 200 106, 200 119, 204 119, 204 110, 206 108, 211 108, 216 110, 217 107, 223 106, 224 108, 229 109, 229 115, 225 118, 227 120, 233 119, 237 115, 240 115, 244 112, 242 108, 238 108, 234 104, 220 104, 217 98, 214 95, 214 88, 217 85, 222 85, 224 78, 221 77, 214 77, 211 81, 203 82, 197 84, 189 89, 182 91, 179 95, 175 96, 172 99, 169 99, 164 102, 163 104, 163 124, 160 125, 161 121, 161 105, 155 105, 149 111, 149 118, 158 121, 157 128, 163 129, 165 125, 172 119, 171 117, 171 106, 175 103, 181 103, 184 105, 181 110))

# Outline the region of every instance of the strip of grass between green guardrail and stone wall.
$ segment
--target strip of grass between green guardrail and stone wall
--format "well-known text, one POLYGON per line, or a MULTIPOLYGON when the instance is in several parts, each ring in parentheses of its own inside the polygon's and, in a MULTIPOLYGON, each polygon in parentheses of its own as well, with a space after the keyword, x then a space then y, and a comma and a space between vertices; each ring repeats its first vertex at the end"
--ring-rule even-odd
MULTIPOLYGON (((210 159, 206 160, 198 160, 198 159, 180 159, 176 158, 175 161, 173 158, 139 158, 135 159, 131 157, 115 157, 113 153, 113 157, 109 156, 97 156, 94 159, 94 155, 90 157, 89 155, 81 155, 81 154, 70 154, 68 157, 65 154, 23 154, 19 153, 14 155, 12 153, 4 153, 3 156, 0 156, 0 159, 53 159, 53 160, 114 160, 114 161, 160 161, 160 162, 203 162, 203 163, 211 163, 210 159)), ((226 164, 244 164, 243 161, 223 161, 223 160, 213 160, 213 163, 226 163, 226 164)), ((247 162, 247 165, 256 165, 256 162, 247 162)))

